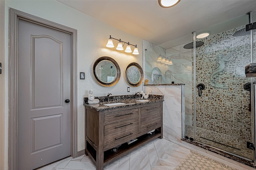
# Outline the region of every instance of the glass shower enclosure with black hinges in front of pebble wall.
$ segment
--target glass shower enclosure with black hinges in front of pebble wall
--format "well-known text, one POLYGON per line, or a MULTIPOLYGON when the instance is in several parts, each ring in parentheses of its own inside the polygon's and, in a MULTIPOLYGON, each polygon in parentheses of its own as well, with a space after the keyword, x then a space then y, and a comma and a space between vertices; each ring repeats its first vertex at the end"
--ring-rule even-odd
MULTIPOLYGON (((256 14, 243 18, 252 23, 256 14)), ((203 39, 198 34, 193 33, 191 108, 183 137, 254 162, 254 78, 244 70, 256 63, 256 32, 243 24, 203 39)))

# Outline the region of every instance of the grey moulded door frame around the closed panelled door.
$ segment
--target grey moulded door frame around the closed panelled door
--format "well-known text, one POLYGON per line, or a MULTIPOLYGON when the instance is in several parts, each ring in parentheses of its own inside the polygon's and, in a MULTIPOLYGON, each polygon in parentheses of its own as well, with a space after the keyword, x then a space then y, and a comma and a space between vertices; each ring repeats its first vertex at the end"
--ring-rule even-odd
POLYGON ((9 9, 9 139, 8 164, 9 170, 18 170, 18 21, 26 20, 32 23, 56 29, 72 36, 72 79, 71 79, 71 156, 77 157, 77 86, 76 86, 76 55, 77 30, 52 21, 45 20, 9 9))

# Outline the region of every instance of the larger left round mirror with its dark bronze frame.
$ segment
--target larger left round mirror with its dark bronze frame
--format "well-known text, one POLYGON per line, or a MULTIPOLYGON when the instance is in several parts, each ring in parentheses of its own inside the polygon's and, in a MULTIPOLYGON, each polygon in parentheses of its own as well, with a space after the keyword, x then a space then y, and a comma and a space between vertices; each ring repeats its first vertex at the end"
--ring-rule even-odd
POLYGON ((120 79, 120 67, 111 57, 100 57, 93 64, 93 75, 102 86, 114 86, 120 79))

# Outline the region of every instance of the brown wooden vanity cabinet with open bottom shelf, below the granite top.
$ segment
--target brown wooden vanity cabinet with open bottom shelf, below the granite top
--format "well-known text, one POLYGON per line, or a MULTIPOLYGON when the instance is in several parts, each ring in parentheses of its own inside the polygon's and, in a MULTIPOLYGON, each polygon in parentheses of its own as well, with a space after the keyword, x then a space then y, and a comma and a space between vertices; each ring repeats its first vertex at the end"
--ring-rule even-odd
POLYGON ((162 139, 162 101, 96 111, 85 106, 85 153, 97 170, 124 154, 152 141, 162 139), (147 134, 155 130, 154 133, 147 134), (138 140, 130 145, 128 141, 138 140), (122 144, 122 145, 121 145, 122 144), (121 145, 116 152, 111 149, 121 145))

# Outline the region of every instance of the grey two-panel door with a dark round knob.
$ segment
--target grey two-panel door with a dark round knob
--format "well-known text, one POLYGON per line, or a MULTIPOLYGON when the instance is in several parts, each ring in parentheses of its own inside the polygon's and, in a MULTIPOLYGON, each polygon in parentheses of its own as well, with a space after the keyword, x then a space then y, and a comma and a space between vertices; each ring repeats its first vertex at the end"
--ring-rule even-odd
POLYGON ((18 21, 18 170, 71 155, 72 36, 18 21))

